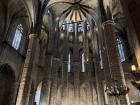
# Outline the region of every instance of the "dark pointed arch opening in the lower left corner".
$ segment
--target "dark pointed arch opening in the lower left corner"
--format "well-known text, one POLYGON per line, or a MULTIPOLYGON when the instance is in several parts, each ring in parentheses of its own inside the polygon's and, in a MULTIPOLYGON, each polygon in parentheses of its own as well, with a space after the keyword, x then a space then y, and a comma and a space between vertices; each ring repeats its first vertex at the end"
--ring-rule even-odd
POLYGON ((0 65, 0 105, 15 102, 15 73, 9 64, 0 65), (6 97, 6 98, 5 98, 6 97))

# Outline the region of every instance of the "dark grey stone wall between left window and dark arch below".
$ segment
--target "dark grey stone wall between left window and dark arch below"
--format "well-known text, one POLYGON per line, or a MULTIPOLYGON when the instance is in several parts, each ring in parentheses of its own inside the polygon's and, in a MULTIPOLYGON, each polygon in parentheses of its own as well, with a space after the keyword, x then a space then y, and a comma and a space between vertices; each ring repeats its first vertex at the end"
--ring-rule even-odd
POLYGON ((20 72, 24 64, 25 57, 18 53, 13 47, 4 43, 0 47, 0 62, 2 64, 8 64, 15 73, 16 80, 20 77, 20 72))

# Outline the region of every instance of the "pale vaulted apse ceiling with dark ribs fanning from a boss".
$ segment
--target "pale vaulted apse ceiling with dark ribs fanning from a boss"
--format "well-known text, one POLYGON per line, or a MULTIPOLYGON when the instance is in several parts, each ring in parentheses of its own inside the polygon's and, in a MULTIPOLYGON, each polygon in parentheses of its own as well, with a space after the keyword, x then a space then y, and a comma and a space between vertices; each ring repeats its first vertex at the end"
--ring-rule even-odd
POLYGON ((54 2, 48 7, 55 11, 60 21, 65 21, 66 23, 81 22, 90 18, 94 19, 96 17, 94 8, 83 4, 82 1, 83 0, 74 2, 54 2), (60 8, 62 8, 61 6, 64 8, 60 10, 60 8))

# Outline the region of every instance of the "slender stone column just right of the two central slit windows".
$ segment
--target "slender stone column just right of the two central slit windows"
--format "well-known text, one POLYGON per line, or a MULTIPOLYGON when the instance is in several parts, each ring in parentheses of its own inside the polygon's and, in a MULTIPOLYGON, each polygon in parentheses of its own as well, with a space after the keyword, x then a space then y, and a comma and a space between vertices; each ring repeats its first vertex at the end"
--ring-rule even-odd
MULTIPOLYGON (((93 82, 92 79, 91 79, 91 76, 92 76, 92 57, 91 57, 91 54, 90 54, 90 51, 89 51, 89 47, 90 47, 90 44, 89 44, 89 39, 87 37, 87 22, 85 21, 83 23, 83 26, 84 26, 84 32, 83 32, 83 36, 84 36, 84 64, 85 64, 85 72, 82 73, 84 74, 84 84, 85 84, 85 93, 86 93, 86 103, 87 105, 94 105, 93 104, 93 82)), ((90 33, 92 34, 92 33, 90 33)), ((91 35, 92 36, 92 35, 91 35)), ((92 40, 92 39, 90 39, 92 40)))

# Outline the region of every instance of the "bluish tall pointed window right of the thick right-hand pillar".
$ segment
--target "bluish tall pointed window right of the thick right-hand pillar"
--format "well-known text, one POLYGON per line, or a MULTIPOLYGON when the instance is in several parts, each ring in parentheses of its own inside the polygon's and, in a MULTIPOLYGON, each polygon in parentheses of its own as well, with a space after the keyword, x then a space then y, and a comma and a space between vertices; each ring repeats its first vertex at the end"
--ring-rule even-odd
POLYGON ((123 62, 125 61, 125 51, 123 40, 120 37, 117 38, 117 47, 119 51, 120 61, 123 62))

